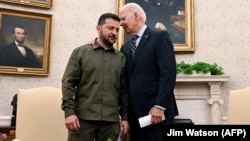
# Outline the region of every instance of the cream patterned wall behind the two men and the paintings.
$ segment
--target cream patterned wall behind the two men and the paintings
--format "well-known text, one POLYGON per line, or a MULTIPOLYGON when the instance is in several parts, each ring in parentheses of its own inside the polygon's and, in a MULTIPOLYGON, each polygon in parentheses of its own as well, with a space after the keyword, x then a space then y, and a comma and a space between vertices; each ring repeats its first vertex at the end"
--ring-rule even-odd
MULTIPOLYGON (((195 53, 176 54, 177 61, 206 61, 222 66, 231 76, 223 86, 225 98, 230 89, 250 86, 249 5, 250 1, 194 0, 195 53)), ((2 2, 0 7, 53 15, 50 75, 0 74, 0 115, 10 115, 10 103, 18 88, 61 87, 71 51, 96 36, 98 17, 104 12, 116 12, 116 0, 53 0, 51 9, 2 2)))

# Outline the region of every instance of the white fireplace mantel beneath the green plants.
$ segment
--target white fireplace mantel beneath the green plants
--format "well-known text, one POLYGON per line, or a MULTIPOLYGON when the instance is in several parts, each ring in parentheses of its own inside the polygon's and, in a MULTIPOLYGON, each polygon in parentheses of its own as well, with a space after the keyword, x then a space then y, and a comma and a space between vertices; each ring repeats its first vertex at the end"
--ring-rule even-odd
POLYGON ((206 106, 207 108, 203 110, 208 110, 206 111, 208 114, 204 116, 205 118, 207 118, 207 122, 204 124, 222 124, 221 105, 224 103, 224 100, 222 98, 222 85, 224 82, 227 82, 229 80, 229 77, 230 76, 226 75, 177 75, 177 92, 175 92, 177 102, 178 100, 205 100, 208 106, 206 106), (185 89, 188 92, 185 92, 185 89), (205 90, 204 93, 204 89, 208 90, 205 90), (192 90, 196 90, 196 92, 190 92, 192 90))

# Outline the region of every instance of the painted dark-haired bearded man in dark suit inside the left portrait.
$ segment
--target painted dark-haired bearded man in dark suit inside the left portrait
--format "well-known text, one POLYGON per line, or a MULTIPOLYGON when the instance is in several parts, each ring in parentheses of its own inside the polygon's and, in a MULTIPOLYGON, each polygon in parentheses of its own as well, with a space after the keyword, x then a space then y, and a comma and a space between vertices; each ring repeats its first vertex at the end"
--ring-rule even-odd
POLYGON ((41 68, 33 51, 23 44, 25 29, 15 26, 12 36, 15 41, 0 49, 0 66, 41 68))

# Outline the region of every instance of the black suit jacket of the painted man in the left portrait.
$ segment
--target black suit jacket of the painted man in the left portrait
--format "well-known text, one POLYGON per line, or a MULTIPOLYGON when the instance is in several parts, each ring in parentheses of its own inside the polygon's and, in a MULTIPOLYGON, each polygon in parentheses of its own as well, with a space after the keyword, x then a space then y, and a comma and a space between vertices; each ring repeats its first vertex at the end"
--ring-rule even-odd
POLYGON ((0 50, 0 66, 41 68, 40 63, 33 51, 24 47, 26 56, 24 57, 13 42, 0 50))

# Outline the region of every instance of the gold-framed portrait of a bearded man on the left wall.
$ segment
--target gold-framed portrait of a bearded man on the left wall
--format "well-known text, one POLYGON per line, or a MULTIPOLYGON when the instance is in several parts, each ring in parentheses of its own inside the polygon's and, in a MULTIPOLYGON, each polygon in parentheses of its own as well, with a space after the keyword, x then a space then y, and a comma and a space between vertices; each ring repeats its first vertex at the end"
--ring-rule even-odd
POLYGON ((0 73, 48 75, 52 15, 0 8, 0 73))

